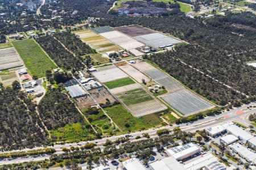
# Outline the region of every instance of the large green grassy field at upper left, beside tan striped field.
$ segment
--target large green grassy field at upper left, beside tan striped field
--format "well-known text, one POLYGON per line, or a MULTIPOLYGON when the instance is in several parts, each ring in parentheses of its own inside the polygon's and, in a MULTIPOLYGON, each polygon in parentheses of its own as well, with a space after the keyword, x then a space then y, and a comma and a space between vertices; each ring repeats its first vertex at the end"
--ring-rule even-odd
POLYGON ((55 69, 55 64, 44 53, 40 46, 33 39, 14 41, 13 45, 23 59, 28 73, 38 78, 45 76, 46 70, 55 69))

